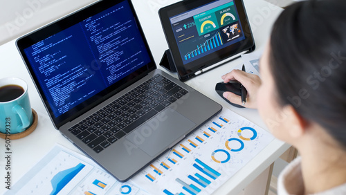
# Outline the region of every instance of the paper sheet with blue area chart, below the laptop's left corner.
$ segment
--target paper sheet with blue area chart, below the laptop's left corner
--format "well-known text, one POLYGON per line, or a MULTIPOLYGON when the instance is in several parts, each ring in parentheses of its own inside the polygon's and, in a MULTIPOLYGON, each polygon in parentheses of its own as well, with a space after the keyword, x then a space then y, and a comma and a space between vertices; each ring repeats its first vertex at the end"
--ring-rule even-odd
POLYGON ((131 182, 120 183, 85 156, 56 145, 7 194, 147 195, 131 182))

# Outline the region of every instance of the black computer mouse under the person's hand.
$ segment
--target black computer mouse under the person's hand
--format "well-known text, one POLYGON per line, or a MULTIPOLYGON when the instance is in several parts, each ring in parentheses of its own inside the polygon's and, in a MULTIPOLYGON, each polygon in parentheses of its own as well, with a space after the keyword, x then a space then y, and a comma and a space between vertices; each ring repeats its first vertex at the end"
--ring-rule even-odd
POLYGON ((224 98, 224 100, 226 100, 226 102, 228 102, 232 106, 235 106, 237 108, 244 108, 244 106, 241 106, 241 105, 234 104, 234 103, 230 102, 223 95, 224 92, 226 92, 226 91, 230 91, 232 93, 235 93, 236 95, 242 95, 241 86, 242 86, 242 84, 240 84, 237 81, 230 81, 228 83, 219 82, 215 86, 215 91, 217 91, 217 94, 219 94, 222 98, 224 98))

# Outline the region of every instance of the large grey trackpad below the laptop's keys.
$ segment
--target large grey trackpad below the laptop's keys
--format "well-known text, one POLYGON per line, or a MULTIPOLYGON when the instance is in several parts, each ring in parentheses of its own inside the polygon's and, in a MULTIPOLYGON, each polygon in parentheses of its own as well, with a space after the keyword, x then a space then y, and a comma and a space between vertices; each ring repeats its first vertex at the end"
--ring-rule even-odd
POLYGON ((129 133, 126 138, 149 156, 155 156, 195 125, 188 118, 168 108, 129 133))

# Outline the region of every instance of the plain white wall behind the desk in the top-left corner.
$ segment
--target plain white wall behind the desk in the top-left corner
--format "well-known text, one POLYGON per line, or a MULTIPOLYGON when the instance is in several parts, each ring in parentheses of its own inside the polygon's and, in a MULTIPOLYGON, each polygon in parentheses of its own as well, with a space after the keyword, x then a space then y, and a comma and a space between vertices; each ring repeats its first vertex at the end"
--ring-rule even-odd
POLYGON ((0 45, 95 0, 0 0, 0 45))

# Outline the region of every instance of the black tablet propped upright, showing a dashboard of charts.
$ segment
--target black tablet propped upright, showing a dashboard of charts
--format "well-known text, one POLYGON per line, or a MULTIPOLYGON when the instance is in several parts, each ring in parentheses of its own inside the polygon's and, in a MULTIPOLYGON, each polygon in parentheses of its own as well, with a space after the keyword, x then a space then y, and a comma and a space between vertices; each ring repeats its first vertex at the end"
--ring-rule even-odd
POLYGON ((242 0, 185 0, 161 8, 158 14, 182 81, 255 49, 242 0))

